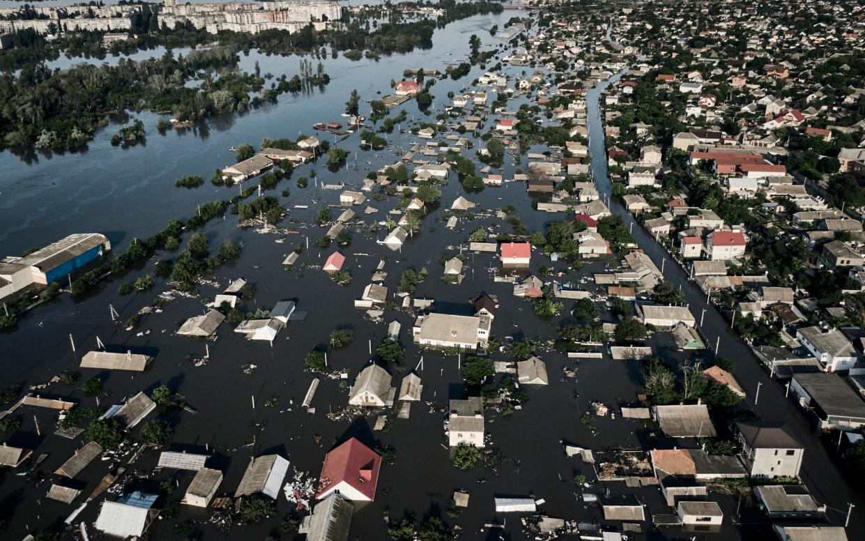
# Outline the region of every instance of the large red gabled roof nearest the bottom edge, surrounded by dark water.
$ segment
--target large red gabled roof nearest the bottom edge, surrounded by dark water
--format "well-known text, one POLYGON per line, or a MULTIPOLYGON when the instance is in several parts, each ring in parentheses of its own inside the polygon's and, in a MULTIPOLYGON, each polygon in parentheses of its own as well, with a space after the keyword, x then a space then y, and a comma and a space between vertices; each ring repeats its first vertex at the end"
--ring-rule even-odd
POLYGON ((368 499, 375 499, 380 469, 381 456, 356 438, 351 438, 324 457, 316 499, 342 482, 368 499))

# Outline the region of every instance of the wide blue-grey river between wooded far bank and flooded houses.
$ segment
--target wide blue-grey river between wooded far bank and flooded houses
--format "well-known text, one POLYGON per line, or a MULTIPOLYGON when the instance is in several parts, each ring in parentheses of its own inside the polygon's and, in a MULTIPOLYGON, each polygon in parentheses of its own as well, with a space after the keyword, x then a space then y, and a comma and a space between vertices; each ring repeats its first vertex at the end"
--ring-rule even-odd
MULTIPOLYGON (((490 35, 490 27, 502 28, 511 16, 524 13, 505 10, 498 15, 473 16, 451 23, 436 30, 432 48, 382 57, 380 61, 350 61, 342 55, 334 60, 329 56, 323 60, 324 71, 331 78, 324 90, 282 94, 274 105, 206 119, 190 130, 160 134, 157 119, 166 117, 133 113, 144 121, 147 138, 143 144, 129 148, 110 143, 112 134, 128 123, 123 119, 126 121, 99 129, 86 151, 37 151, 23 157, 2 151, 0 214, 4 227, 0 231, 0 254, 19 254, 81 231, 108 232, 112 242, 123 242, 130 235, 151 235, 171 218, 188 216, 197 203, 224 199, 235 191, 215 189, 209 183, 198 190, 178 190, 174 187, 177 177, 201 175, 209 179, 216 168, 234 164, 234 153, 228 149, 236 145, 251 143, 257 147, 265 137, 311 134, 317 122, 344 122, 339 114, 352 89, 360 93, 363 101, 381 99, 388 91, 388 81, 402 79, 405 68, 444 70, 450 62, 465 60, 472 34, 481 38, 484 47, 499 47, 501 42, 490 35), (154 193, 160 196, 153 197, 154 193)), ((291 77, 299 72, 297 56, 266 56, 251 51, 240 58, 240 67, 250 71, 259 61, 262 74, 291 77)), ((470 83, 476 73, 460 81, 439 81, 433 94, 440 103, 448 91, 470 83)), ((413 102, 404 108, 420 118, 413 102)), ((307 174, 309 169, 299 168, 296 175, 307 174)))

